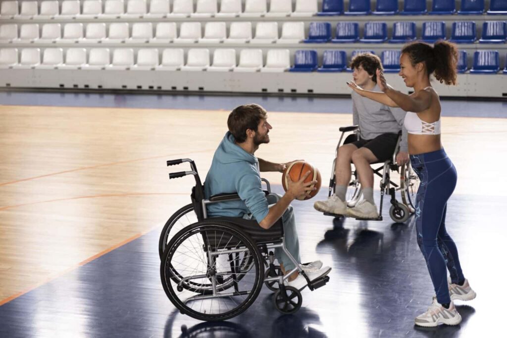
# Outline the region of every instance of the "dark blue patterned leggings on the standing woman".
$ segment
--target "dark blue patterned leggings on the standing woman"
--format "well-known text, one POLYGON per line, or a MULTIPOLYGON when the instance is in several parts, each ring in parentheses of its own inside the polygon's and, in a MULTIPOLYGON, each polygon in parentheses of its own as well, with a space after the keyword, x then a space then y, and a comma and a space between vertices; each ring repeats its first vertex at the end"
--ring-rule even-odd
POLYGON ((456 244, 445 228, 447 200, 456 187, 456 168, 444 149, 411 155, 410 161, 420 179, 415 206, 417 243, 426 259, 437 301, 450 303, 447 270, 453 283, 464 279, 456 244))

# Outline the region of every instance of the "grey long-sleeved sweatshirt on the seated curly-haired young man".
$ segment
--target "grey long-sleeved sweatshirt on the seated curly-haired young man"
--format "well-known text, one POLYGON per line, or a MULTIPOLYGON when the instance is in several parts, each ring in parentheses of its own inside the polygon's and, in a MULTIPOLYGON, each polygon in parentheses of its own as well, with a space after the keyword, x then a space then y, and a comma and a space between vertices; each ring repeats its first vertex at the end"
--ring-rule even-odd
MULTIPOLYGON (((372 91, 380 92, 380 88, 375 85, 372 91)), ((401 130, 400 151, 408 152, 407 129, 403 125, 406 114, 401 108, 389 107, 352 92, 352 121, 359 125, 362 139, 372 140, 381 134, 401 130)))

